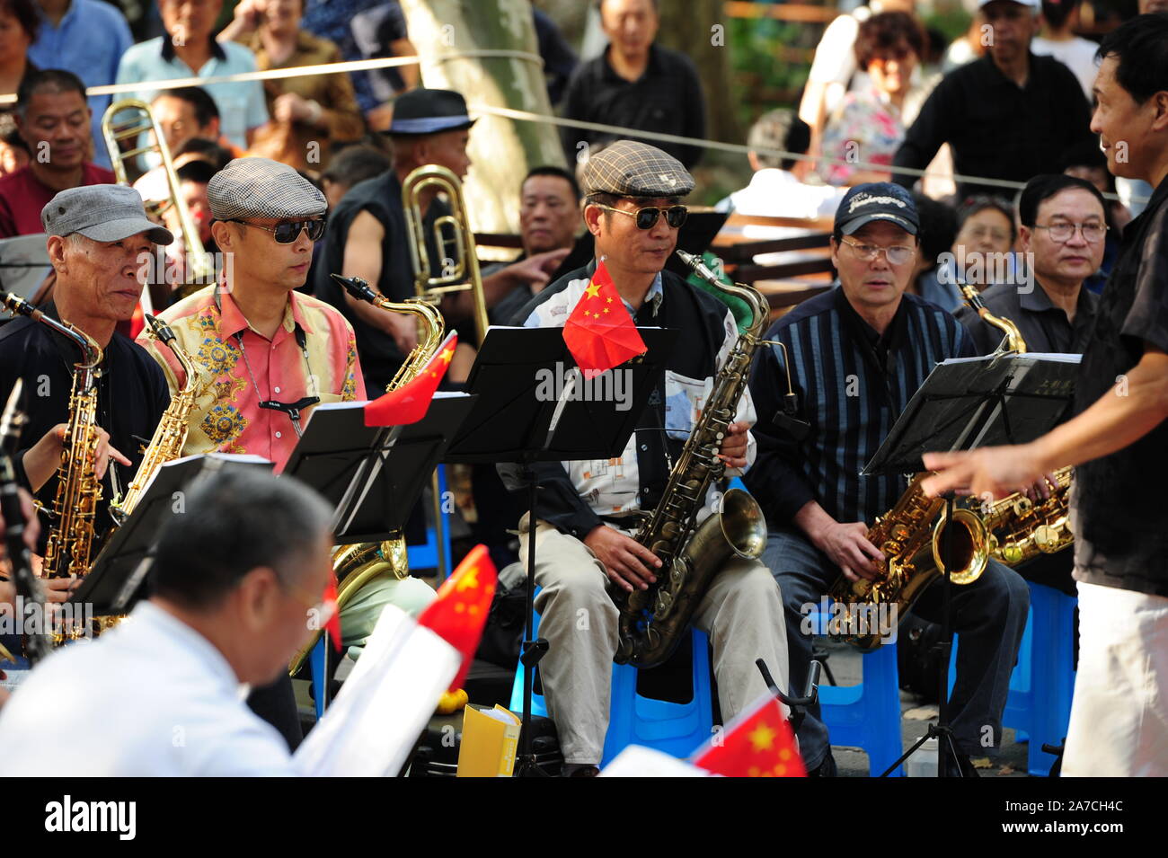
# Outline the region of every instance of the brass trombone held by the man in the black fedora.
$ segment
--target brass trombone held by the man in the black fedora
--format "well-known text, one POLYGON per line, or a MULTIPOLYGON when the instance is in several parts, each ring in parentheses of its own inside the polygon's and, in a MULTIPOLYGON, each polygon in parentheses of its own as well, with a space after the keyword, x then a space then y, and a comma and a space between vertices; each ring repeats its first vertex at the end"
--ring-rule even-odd
POLYGON ((410 233, 415 292, 423 301, 437 305, 447 293, 470 291, 474 299, 474 329, 481 343, 487 335, 487 301, 482 294, 482 277, 474 254, 474 233, 466 214, 463 183, 453 170, 437 163, 423 165, 412 170, 402 183, 402 205, 410 233), (451 208, 451 214, 434 218, 432 226, 434 246, 443 258, 443 270, 437 275, 430 270, 422 221, 420 197, 426 190, 445 194, 451 208))

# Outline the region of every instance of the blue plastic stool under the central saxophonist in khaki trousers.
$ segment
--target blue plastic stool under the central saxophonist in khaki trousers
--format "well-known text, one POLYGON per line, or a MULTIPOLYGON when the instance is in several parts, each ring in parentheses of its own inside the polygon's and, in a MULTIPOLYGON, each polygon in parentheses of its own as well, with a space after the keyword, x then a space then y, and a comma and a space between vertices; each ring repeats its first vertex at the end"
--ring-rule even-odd
MULTIPOLYGON (((535 634, 540 615, 535 615, 535 634)), ((612 665, 609 732, 604 737, 600 765, 607 765, 630 745, 645 745, 674 756, 688 756, 707 741, 714 728, 714 697, 710 682, 709 639, 697 629, 690 634, 694 648, 694 696, 689 703, 669 703, 637 693, 637 668, 612 665)), ((523 665, 515 672, 510 711, 523 713, 523 665)), ((547 716, 543 695, 531 695, 531 714, 547 716)))

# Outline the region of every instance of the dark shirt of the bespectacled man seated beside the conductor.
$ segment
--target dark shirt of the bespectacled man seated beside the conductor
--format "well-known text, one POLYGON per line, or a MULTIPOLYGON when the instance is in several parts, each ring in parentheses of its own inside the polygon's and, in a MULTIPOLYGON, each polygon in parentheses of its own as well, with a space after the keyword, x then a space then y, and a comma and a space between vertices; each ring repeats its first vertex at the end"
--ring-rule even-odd
MULTIPOLYGON (((1097 294, 1080 288, 1075 321, 1070 322, 1065 311, 1050 302, 1047 291, 1037 281, 1028 292, 1009 284, 990 286, 981 293, 981 301, 995 316, 1008 319, 1018 327, 1027 351, 1063 355, 1083 354, 1099 306, 1097 294)), ((954 315, 973 334, 979 355, 990 354, 1002 341, 1001 329, 982 321, 969 307, 961 307, 954 315)))

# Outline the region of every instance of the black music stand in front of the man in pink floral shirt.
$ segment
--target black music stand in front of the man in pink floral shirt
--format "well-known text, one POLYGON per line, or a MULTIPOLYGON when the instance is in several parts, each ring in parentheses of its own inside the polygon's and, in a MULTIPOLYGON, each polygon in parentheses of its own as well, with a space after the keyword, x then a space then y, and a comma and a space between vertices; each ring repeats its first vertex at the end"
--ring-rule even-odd
MULTIPOLYGON (((336 545, 382 542, 401 532, 413 504, 475 397, 434 393, 425 417, 405 426, 366 426, 366 402, 328 403, 312 419, 283 474, 333 507, 336 545)), ((317 685, 328 705, 328 647, 317 685)))

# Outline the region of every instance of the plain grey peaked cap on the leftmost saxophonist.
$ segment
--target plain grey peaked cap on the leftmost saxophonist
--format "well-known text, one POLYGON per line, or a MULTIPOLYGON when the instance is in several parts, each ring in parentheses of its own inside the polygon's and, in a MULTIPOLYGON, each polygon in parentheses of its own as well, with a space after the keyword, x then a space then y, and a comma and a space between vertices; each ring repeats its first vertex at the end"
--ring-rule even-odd
POLYGON ((120 242, 145 232, 154 244, 174 240, 171 230, 146 217, 142 198, 125 184, 86 184, 62 190, 41 209, 50 236, 81 232, 95 242, 120 242))

